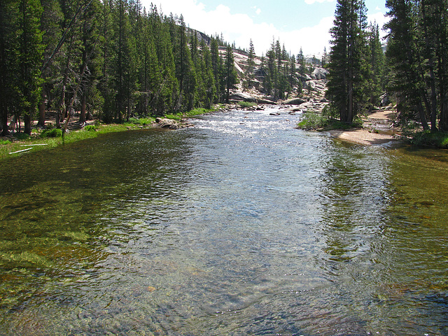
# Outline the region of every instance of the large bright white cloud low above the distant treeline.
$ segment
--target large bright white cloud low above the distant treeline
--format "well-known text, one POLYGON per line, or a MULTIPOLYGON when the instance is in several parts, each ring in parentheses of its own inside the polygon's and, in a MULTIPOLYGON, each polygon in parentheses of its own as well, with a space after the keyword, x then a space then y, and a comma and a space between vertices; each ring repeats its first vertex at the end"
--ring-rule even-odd
MULTIPOLYGON (((142 3, 148 8, 149 1, 143 0, 142 3)), ((279 38, 286 50, 295 55, 300 47, 304 54, 311 55, 322 52, 324 46, 329 50, 328 31, 332 27, 332 17, 323 18, 314 27, 281 31, 267 22, 255 23, 246 14, 232 13, 228 6, 222 4, 211 9, 196 0, 163 0, 161 9, 165 15, 182 14, 186 25, 205 34, 222 33, 226 41, 230 43, 235 41, 237 47, 247 49, 252 39, 257 55, 269 49, 273 38, 279 38)))

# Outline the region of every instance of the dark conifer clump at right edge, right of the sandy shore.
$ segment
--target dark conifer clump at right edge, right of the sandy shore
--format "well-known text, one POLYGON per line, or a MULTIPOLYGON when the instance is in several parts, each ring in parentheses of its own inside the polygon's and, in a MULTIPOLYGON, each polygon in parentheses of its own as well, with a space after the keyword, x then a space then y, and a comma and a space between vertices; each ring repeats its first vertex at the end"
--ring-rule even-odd
POLYGON ((446 0, 387 0, 388 90, 423 130, 448 131, 446 0))

